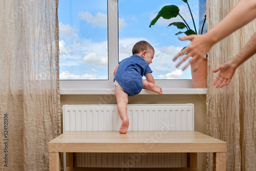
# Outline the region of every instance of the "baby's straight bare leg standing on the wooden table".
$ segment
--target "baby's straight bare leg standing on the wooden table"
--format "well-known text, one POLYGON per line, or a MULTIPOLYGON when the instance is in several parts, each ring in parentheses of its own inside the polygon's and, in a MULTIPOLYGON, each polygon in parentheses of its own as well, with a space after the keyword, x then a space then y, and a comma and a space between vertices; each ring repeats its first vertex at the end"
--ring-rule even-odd
POLYGON ((117 110, 122 120, 122 125, 119 129, 119 133, 125 134, 127 133, 129 127, 129 119, 127 116, 128 95, 117 86, 115 87, 115 93, 117 101, 117 110))

